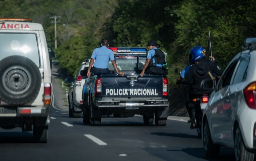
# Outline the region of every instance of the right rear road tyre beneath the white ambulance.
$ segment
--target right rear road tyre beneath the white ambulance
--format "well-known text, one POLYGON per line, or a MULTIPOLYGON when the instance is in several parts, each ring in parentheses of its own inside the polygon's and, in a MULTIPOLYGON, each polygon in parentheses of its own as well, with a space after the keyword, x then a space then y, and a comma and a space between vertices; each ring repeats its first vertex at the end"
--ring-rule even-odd
POLYGON ((33 125, 33 134, 37 142, 47 142, 48 140, 48 126, 33 125))

